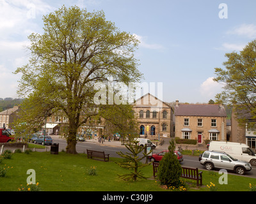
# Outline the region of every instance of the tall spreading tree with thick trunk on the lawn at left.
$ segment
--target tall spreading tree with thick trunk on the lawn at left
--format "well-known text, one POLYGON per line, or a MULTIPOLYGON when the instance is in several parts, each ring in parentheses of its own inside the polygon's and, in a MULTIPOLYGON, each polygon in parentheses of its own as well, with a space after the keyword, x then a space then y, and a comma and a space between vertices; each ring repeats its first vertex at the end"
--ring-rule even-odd
POLYGON ((93 84, 108 78, 138 82, 139 42, 106 20, 103 11, 62 6, 43 20, 44 33, 28 37, 29 64, 15 71, 22 74, 18 93, 26 97, 22 120, 35 127, 54 112, 67 115, 67 152, 76 154, 77 128, 99 113, 93 84))

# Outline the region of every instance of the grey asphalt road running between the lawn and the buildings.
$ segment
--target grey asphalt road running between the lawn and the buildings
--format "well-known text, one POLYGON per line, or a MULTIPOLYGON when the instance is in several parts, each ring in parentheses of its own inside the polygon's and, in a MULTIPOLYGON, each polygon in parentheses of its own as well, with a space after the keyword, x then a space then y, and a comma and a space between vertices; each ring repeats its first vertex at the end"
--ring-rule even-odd
MULTIPOLYGON (((54 143, 59 143, 59 150, 65 150, 67 147, 66 140, 63 140, 61 138, 53 138, 54 143)), ((104 142, 105 144, 101 144, 98 142, 77 142, 76 150, 78 153, 86 153, 86 149, 92 149, 92 150, 98 150, 98 151, 104 151, 106 154, 109 154, 109 157, 120 157, 116 152, 128 152, 128 150, 125 148, 124 145, 109 145, 108 142, 104 142), (106 144, 107 143, 107 144, 106 144)), ((167 149, 167 148, 166 148, 167 149)), ((163 147, 157 147, 155 150, 153 150, 153 153, 158 153, 163 150, 163 147)), ((141 154, 142 156, 142 154, 141 154)), ((181 163, 181 166, 186 166, 190 168, 198 168, 200 170, 205 170, 204 166, 200 164, 198 161, 198 157, 195 156, 183 156, 184 161, 181 163)), ((216 173, 218 173, 218 170, 216 170, 216 173)), ((232 171, 228 171, 230 174, 237 175, 236 173, 233 173, 232 171)), ((241 175, 242 177, 252 177, 256 178, 256 166, 253 166, 251 171, 246 172, 245 175, 241 175)))

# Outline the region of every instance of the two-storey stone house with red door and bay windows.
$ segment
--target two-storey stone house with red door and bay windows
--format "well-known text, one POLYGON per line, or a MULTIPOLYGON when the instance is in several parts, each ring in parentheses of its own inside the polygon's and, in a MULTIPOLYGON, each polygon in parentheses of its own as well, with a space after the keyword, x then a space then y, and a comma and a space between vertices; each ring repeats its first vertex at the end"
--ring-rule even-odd
POLYGON ((175 137, 197 140, 227 140, 227 113, 222 105, 175 103, 175 137))

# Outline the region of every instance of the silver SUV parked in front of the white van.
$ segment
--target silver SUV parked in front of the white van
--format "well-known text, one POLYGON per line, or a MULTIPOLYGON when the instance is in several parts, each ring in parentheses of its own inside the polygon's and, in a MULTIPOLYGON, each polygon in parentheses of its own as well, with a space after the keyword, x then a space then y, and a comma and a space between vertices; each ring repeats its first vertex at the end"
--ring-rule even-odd
POLYGON ((245 171, 252 170, 250 163, 234 159, 225 152, 205 151, 204 154, 199 156, 199 161, 207 170, 223 168, 236 171, 240 175, 243 175, 245 171))

